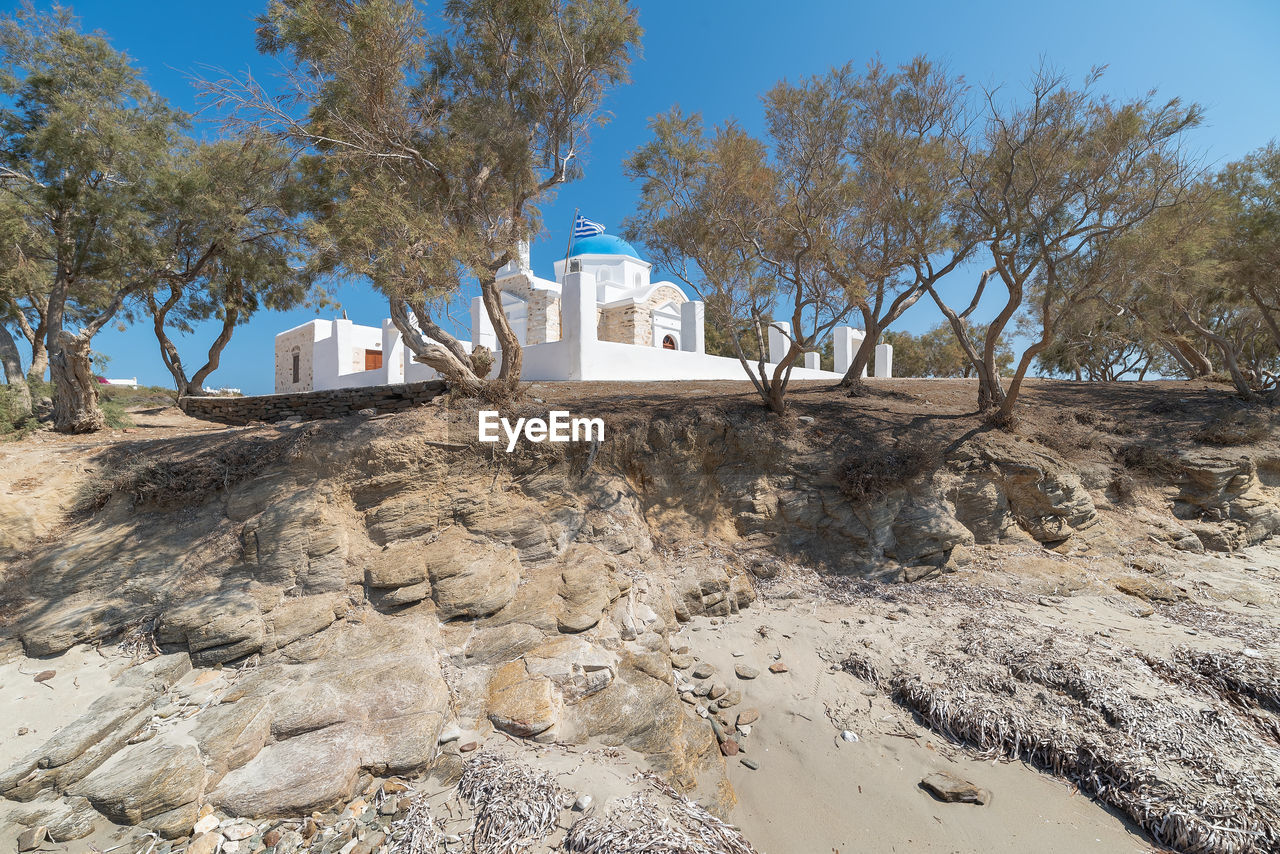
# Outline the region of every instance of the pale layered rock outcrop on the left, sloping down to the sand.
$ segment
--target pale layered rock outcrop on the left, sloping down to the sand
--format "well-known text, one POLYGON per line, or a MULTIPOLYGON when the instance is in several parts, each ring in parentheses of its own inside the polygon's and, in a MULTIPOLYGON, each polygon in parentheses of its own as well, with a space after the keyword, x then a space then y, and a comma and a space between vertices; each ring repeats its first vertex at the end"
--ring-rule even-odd
POLYGON ((745 577, 686 595, 622 478, 517 485, 365 430, 198 507, 108 506, 33 558, 22 652, 122 632, 164 652, 5 769, 0 795, 55 839, 95 814, 179 836, 206 804, 308 814, 493 730, 630 746, 714 786, 714 735, 678 702, 667 639, 677 604, 745 607, 745 577))

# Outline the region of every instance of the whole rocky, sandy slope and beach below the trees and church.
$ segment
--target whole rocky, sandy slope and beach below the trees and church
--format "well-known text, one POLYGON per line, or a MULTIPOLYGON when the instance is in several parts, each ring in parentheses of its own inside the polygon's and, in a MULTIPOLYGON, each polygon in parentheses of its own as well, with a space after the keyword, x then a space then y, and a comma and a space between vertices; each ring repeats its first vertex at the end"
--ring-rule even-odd
POLYGON ((502 746, 559 775, 544 846, 662 810, 710 840, 671 850, 749 850, 716 816, 771 851, 1277 844, 1268 414, 1041 383, 1000 433, 959 382, 800 389, 781 419, 727 391, 535 387, 511 415, 607 438, 509 456, 460 401, 6 446, 4 718, 36 725, 5 739, 0 814, 372 851, 419 793, 474 842, 493 780, 536 782, 471 759, 502 746), (936 804, 931 768, 992 802, 936 804))

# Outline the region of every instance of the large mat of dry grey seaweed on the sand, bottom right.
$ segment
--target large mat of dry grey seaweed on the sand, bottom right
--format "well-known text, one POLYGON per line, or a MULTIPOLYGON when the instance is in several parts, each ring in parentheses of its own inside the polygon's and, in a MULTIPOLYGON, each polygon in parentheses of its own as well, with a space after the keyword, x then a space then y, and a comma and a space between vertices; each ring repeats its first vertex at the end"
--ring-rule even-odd
POLYGON ((1280 850, 1272 662, 1188 649, 1152 662, 974 609, 910 667, 881 673, 860 653, 842 663, 937 732, 1066 777, 1174 850, 1280 850))

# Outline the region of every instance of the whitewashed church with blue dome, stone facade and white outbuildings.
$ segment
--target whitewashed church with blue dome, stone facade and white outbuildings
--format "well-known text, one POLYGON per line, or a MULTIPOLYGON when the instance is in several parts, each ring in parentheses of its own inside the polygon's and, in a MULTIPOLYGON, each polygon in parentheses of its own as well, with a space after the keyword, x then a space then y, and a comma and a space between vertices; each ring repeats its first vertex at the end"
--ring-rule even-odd
MULTIPOLYGON (((585 222, 585 220, 584 220, 585 222)), ((524 380, 742 380, 736 359, 705 352, 703 303, 673 282, 652 282, 652 264, 626 241, 595 233, 573 241, 567 259, 556 261, 556 280, 532 273, 527 245, 498 273, 503 311, 524 347, 524 380)), ((771 364, 788 347, 790 325, 769 329, 771 364)), ((835 330, 835 371, 820 370, 818 353, 805 353, 794 379, 844 376, 863 333, 835 330)), ((500 351, 489 315, 471 301, 471 341, 500 351)), ((876 375, 892 374, 892 347, 876 348, 876 375)), ((755 370, 755 365, 751 365, 755 370)), ((380 328, 346 318, 311 320, 275 337, 275 392, 326 391, 436 379, 434 369, 415 362, 390 319, 380 328)))

